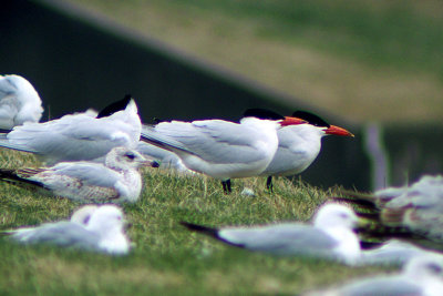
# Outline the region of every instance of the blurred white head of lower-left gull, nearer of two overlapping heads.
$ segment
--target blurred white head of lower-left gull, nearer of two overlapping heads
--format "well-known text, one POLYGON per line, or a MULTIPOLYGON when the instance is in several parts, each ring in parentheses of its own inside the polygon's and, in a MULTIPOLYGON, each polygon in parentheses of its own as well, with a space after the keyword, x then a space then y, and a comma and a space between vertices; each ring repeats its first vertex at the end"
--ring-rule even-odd
POLYGON ((102 235, 123 232, 123 212, 116 205, 102 205, 92 213, 86 228, 102 235))

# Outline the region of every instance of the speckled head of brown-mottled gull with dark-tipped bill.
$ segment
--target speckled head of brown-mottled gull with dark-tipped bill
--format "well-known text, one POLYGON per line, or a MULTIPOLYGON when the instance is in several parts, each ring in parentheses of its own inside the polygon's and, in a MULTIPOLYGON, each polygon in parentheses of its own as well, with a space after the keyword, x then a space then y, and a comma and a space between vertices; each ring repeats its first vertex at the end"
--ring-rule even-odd
POLYGON ((137 169, 146 163, 147 161, 142 154, 127 147, 114 147, 107 153, 105 160, 107 167, 116 170, 137 169))

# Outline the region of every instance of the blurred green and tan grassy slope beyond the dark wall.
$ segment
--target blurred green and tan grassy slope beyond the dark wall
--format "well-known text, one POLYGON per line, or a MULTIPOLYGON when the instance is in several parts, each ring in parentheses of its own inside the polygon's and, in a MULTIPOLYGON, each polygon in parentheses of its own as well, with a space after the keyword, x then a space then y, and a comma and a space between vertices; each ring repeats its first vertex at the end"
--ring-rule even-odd
POLYGON ((443 112, 437 0, 70 1, 348 120, 443 112))

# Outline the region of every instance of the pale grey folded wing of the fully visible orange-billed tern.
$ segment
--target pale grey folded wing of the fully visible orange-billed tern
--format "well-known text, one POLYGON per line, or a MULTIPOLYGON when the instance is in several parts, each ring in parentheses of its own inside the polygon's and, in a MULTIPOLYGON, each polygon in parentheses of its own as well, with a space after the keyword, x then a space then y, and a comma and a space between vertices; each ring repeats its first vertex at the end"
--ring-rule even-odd
POLYGON ((216 163, 249 163, 261 160, 254 146, 257 131, 222 121, 164 122, 155 131, 179 142, 198 157, 216 163))

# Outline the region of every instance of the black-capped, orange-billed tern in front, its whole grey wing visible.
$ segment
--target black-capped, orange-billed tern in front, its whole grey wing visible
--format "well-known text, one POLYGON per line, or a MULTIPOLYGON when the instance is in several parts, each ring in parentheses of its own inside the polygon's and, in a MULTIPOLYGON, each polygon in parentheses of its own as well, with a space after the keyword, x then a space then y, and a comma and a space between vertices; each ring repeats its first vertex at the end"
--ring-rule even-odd
POLYGON ((142 141, 174 152, 195 172, 222 180, 230 193, 230 178, 256 176, 277 151, 277 129, 305 121, 262 109, 249 109, 240 123, 224 120, 161 122, 142 131, 142 141))

